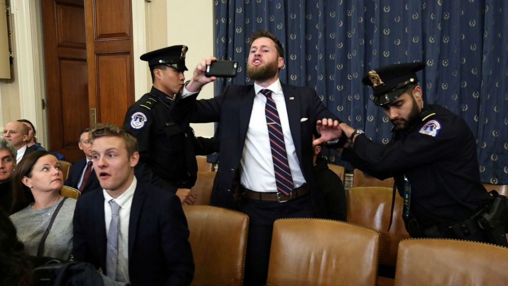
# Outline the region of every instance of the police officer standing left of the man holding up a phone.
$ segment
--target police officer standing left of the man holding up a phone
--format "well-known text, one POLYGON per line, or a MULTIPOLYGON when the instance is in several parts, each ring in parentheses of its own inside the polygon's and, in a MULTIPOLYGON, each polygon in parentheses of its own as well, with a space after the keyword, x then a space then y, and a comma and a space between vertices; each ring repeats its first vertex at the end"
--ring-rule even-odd
POLYGON ((190 191, 197 177, 196 155, 215 150, 212 139, 194 136, 188 124, 177 124, 169 115, 174 97, 185 77, 186 46, 172 46, 143 54, 152 75, 152 90, 134 103, 123 121, 138 140, 140 164, 136 174, 170 189, 182 203, 192 205, 196 195, 190 191))

